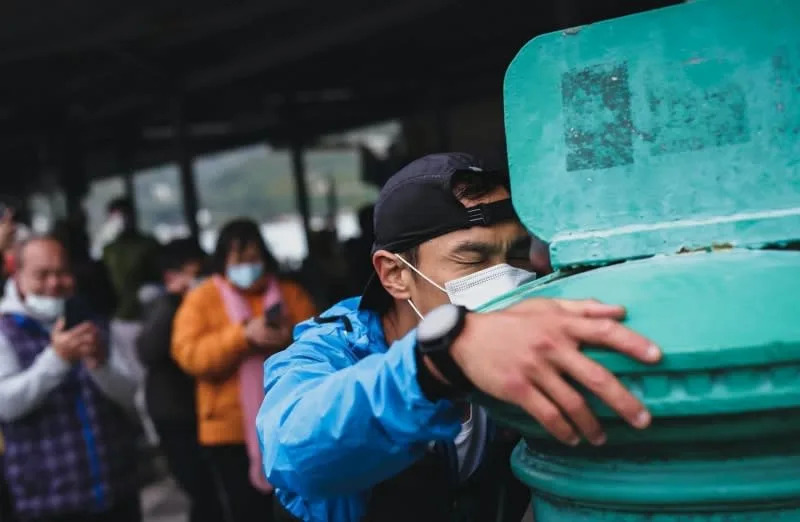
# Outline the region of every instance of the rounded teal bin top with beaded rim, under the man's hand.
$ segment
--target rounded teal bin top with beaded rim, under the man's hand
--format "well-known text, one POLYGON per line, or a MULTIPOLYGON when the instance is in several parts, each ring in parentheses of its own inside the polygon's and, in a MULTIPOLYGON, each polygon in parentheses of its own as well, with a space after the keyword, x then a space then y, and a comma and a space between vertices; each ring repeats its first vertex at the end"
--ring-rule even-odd
MULTIPOLYGON (((534 297, 625 305, 626 324, 662 349, 657 365, 585 350, 656 419, 651 429, 639 432, 614 421, 612 411, 589 397, 598 415, 611 421, 610 443, 800 434, 800 414, 775 412, 800 409, 800 253, 741 250, 629 261, 545 284, 533 282, 485 310, 534 297)), ((516 408, 479 400, 526 436, 545 437, 516 408)))

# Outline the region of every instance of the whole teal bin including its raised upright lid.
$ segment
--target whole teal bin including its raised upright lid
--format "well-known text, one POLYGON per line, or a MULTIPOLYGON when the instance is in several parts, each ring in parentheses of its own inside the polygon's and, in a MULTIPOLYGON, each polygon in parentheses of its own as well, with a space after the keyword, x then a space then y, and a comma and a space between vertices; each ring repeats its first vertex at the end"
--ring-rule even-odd
POLYGON ((699 0, 535 38, 504 86, 512 195, 550 242, 538 297, 625 305, 653 366, 585 347, 653 414, 524 441, 537 522, 800 522, 800 2, 699 0))

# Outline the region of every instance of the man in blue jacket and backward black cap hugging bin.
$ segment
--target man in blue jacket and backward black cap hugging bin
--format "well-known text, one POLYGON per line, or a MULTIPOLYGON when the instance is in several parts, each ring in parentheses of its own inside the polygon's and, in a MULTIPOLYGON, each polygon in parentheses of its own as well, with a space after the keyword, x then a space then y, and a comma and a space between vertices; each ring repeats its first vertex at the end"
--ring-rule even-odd
POLYGON ((530 236, 506 176, 465 154, 411 163, 381 190, 373 252, 363 297, 299 326, 266 364, 264 470, 296 519, 501 519, 507 455, 485 412, 463 401, 472 389, 521 406, 571 445, 605 435, 567 378, 634 426, 649 424, 579 351, 591 343, 658 360, 617 322, 620 307, 537 299, 472 314, 446 304, 475 308, 531 276, 511 266, 528 265, 530 236))

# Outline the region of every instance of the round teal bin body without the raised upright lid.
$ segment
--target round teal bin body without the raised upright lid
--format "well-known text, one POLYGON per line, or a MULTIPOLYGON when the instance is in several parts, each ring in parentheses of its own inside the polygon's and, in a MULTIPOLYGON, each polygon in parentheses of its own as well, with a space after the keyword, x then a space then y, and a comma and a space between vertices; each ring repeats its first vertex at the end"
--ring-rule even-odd
POLYGON ((536 297, 625 303, 664 350, 648 366, 587 348, 653 413, 630 428, 588 397, 603 448, 555 442, 524 412, 481 398, 524 434, 512 458, 538 522, 800 520, 800 253, 694 253, 533 283, 536 297))

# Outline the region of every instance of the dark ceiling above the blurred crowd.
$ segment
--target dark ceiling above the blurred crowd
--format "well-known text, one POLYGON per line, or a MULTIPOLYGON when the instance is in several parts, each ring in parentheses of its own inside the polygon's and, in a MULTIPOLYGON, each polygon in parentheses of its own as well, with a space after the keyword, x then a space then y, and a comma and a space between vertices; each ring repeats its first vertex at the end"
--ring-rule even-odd
POLYGON ((6 0, 0 187, 276 143, 500 92, 537 34, 668 0, 6 0), (75 169, 73 169, 75 170, 75 169))

